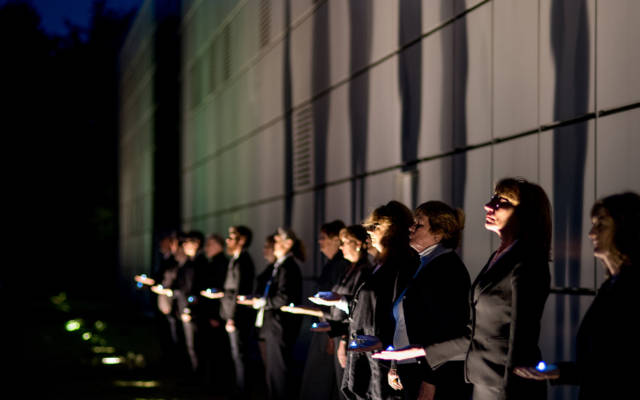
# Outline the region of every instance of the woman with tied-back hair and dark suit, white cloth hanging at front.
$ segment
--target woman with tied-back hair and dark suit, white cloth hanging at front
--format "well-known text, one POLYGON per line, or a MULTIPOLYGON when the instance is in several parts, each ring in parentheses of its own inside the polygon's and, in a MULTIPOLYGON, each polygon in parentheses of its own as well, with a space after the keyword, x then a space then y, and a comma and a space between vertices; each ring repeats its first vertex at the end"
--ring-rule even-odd
POLYGON ((297 387, 291 382, 289 367, 301 320, 296 315, 280 311, 280 307, 300 303, 302 273, 296 260, 305 259, 304 246, 292 230, 279 228, 274 239, 276 261, 271 277, 265 285, 263 297, 253 301, 253 307, 258 310, 256 326, 260 328, 265 342, 269 400, 297 397, 297 387))

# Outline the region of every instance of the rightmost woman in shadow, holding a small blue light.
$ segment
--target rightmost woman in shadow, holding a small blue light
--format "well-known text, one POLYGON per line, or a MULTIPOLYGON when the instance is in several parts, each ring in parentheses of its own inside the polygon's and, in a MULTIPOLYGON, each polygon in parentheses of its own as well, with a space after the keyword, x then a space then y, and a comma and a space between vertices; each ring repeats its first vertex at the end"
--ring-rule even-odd
POLYGON ((580 400, 627 399, 637 391, 640 358, 640 196, 627 192, 597 201, 591 222, 593 254, 607 279, 580 324, 576 362, 518 367, 515 372, 552 384, 577 384, 580 400))

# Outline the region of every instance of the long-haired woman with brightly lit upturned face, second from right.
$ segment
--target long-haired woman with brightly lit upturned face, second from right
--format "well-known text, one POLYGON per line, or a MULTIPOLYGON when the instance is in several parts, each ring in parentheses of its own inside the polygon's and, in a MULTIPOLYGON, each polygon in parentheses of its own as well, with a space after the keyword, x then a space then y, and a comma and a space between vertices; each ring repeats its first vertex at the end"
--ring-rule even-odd
POLYGON ((384 351, 375 358, 426 356, 432 369, 463 358, 473 399, 545 399, 546 385, 514 374, 540 360, 538 338, 549 295, 551 206, 544 190, 524 179, 498 182, 484 206, 485 227, 500 238, 498 250, 470 290, 471 323, 457 339, 426 347, 384 351))

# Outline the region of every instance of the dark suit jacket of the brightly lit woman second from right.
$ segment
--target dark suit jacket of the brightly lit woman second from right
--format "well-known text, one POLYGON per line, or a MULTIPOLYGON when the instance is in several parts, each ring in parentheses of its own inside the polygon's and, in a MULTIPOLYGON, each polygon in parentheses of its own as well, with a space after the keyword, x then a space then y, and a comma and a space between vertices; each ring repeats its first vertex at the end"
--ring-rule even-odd
POLYGON ((539 382, 525 382, 512 369, 541 359, 540 319, 549 284, 547 260, 527 254, 516 242, 493 265, 488 262, 471 286, 469 334, 427 346, 427 362, 435 368, 465 357, 468 382, 505 390, 508 398, 524 386, 538 390, 539 382))

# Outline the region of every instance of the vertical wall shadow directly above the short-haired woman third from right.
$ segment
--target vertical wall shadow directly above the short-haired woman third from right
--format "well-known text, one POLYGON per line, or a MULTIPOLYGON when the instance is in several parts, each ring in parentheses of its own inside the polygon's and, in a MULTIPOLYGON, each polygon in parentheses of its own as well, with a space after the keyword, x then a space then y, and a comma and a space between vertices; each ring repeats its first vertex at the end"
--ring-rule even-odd
MULTIPOLYGON (((448 1, 442 0, 442 10, 446 10, 448 1)), ((465 9, 464 0, 455 0, 453 9, 456 12, 465 9)), ((443 15, 443 17, 446 17, 443 15)), ((442 48, 446 49, 450 46, 447 35, 442 35, 442 48)), ((452 82, 453 98, 449 97, 447 85, 443 85, 442 102, 443 108, 452 107, 452 121, 442 119, 443 127, 442 146, 443 150, 462 149, 467 145, 467 80, 469 70, 468 60, 468 43, 467 43, 467 19, 460 18, 453 25, 453 57, 443 57, 443 76, 444 82, 452 82), (451 101, 451 102, 450 102, 451 101), (450 102, 450 103, 449 103, 450 102), (448 135, 446 125, 451 125, 451 135, 448 135)), ((445 202, 454 207, 464 209, 464 194, 467 179, 467 156, 461 152, 454 154, 450 159, 443 160, 442 166, 442 196, 445 202)))

